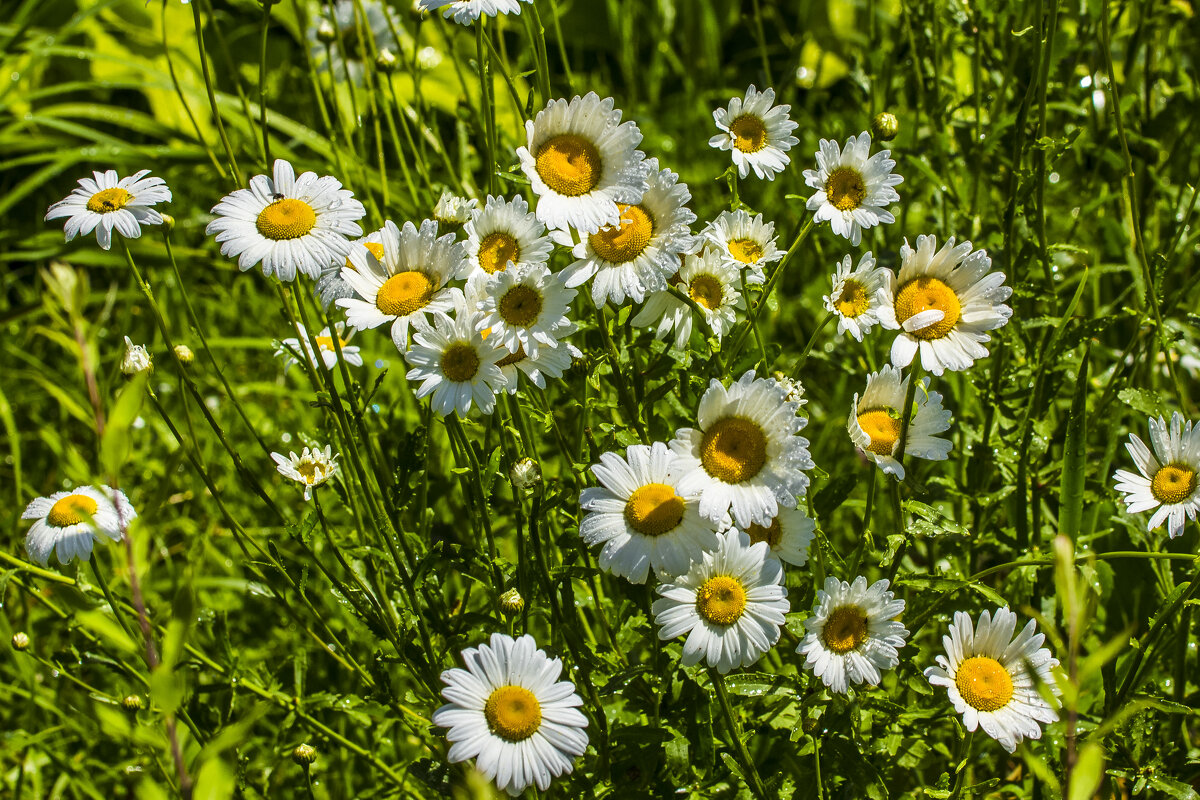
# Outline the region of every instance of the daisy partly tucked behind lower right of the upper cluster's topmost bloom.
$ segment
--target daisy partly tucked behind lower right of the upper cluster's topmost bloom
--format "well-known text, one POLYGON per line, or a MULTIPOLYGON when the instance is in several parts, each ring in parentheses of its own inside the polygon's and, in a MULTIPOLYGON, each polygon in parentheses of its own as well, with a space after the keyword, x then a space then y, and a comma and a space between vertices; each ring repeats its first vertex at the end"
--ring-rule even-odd
POLYGON ((679 257, 695 248, 689 225, 696 215, 686 206, 688 185, 670 169, 659 169, 658 158, 647 158, 646 164, 650 176, 641 203, 620 204, 619 223, 584 236, 572 251, 577 260, 563 270, 568 287, 594 276, 596 306, 610 300, 619 306, 626 296, 642 302, 648 293, 666 290, 679 257))

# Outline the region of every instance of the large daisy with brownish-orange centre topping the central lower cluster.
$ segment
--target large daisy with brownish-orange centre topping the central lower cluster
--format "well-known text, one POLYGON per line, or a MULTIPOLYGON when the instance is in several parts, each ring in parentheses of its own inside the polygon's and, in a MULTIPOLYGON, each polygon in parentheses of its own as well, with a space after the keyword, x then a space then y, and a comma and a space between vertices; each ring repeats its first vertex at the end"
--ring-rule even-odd
POLYGON ((700 399, 698 429, 680 428, 671 440, 679 456, 682 493, 700 493, 700 513, 720 523, 732 512, 734 523, 769 525, 780 506, 794 509, 812 469, 808 423, 797 416, 782 387, 754 369, 726 389, 716 379, 700 399))

